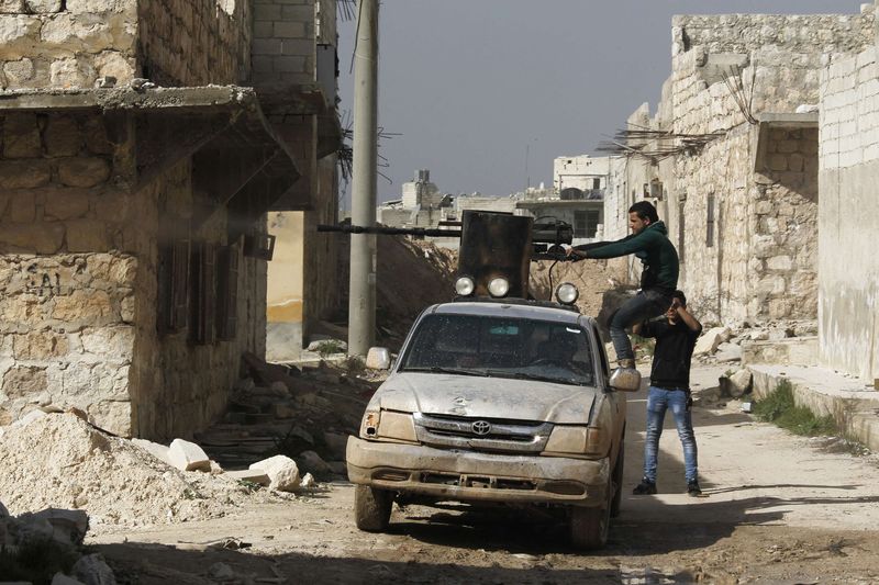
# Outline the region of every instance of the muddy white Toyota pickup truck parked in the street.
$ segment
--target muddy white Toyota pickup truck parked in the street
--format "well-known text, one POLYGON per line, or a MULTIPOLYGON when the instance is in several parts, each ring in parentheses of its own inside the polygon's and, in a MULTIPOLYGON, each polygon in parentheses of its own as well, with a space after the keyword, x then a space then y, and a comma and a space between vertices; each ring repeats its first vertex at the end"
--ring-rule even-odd
POLYGON ((348 438, 359 529, 385 530, 394 499, 539 504, 567 511, 578 548, 604 545, 621 499, 619 391, 637 387, 611 387, 597 324, 570 305, 481 299, 422 313, 348 438))

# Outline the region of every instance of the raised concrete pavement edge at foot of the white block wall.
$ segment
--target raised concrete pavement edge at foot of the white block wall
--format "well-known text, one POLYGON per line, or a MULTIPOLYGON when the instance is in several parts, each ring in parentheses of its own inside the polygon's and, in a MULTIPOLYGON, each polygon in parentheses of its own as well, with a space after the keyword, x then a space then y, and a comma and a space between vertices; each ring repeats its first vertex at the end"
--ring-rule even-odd
POLYGON ((872 383, 819 367, 752 364, 748 369, 757 400, 788 380, 797 405, 816 416, 832 416, 844 436, 879 451, 879 391, 872 383))

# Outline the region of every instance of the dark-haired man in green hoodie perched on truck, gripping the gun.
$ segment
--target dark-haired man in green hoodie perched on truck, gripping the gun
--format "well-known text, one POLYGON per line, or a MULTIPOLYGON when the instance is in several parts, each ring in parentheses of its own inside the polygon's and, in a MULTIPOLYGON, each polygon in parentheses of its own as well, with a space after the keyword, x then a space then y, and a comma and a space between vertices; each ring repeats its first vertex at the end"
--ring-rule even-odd
MULTIPOLYGON (((647 201, 628 207, 628 227, 632 234, 616 241, 601 241, 576 246, 568 250, 575 260, 586 258, 619 258, 634 254, 644 265, 641 272, 641 291, 611 316, 610 334, 621 370, 636 374, 635 353, 625 333, 636 323, 663 315, 671 305, 671 295, 678 286, 678 252, 668 239, 668 229, 647 201)), ((620 372, 615 372, 620 373, 620 372)), ((637 375, 639 379, 641 376, 637 375)))

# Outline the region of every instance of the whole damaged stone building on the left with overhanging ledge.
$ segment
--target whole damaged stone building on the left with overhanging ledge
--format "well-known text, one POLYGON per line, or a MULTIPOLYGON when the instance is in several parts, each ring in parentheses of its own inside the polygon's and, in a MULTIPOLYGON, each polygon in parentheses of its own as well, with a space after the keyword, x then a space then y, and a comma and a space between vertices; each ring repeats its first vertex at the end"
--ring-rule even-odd
POLYGON ((265 352, 267 212, 335 205, 316 4, 0 0, 0 424, 164 440, 224 409, 265 352))

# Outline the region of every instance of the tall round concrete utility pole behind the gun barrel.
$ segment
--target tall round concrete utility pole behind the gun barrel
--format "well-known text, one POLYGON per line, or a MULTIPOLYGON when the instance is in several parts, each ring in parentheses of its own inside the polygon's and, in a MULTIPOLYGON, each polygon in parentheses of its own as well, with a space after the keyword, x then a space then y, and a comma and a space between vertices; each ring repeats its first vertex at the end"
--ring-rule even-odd
MULTIPOLYGON (((354 177, 351 221, 376 223, 378 190, 378 2, 357 3, 354 53, 354 177)), ((376 236, 351 235, 348 353, 366 356, 376 330, 376 236)))

